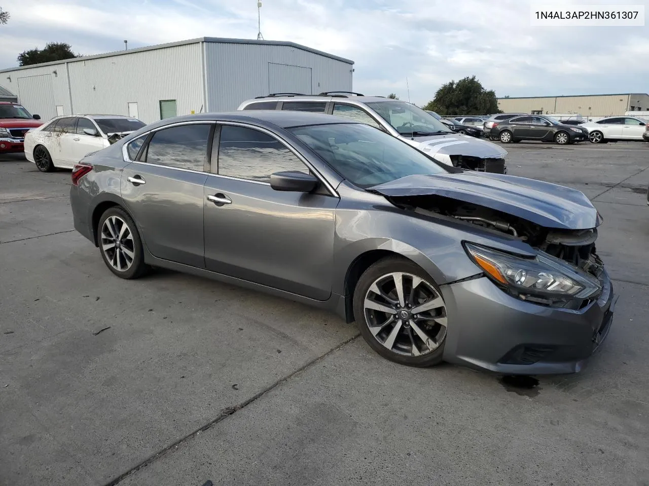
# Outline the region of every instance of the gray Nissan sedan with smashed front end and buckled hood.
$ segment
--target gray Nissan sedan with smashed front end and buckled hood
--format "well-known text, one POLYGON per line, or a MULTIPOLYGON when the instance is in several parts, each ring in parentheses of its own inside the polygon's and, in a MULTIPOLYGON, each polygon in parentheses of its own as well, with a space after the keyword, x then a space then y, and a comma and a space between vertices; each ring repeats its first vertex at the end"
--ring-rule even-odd
POLYGON ((349 119, 167 119, 72 181, 75 228, 118 277, 164 267, 328 308, 401 364, 571 373, 611 325, 582 192, 448 167, 349 119))

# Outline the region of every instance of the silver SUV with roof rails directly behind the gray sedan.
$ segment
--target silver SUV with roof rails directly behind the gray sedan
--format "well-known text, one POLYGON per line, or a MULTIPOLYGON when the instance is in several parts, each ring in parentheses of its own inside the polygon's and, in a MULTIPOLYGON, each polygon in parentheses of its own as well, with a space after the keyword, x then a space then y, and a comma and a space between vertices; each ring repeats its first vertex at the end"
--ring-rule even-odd
POLYGON ((316 111, 365 123, 389 133, 435 160, 454 167, 504 174, 507 151, 489 141, 454 133, 417 106, 349 91, 319 95, 275 93, 241 103, 239 110, 316 111))

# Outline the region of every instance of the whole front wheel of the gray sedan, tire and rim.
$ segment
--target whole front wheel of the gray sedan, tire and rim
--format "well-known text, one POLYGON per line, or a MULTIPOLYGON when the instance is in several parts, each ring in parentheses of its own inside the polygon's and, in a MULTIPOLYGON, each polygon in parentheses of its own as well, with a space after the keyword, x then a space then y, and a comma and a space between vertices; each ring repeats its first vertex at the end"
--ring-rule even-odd
POLYGON ((442 360, 444 299, 410 260, 389 257, 365 270, 354 290, 354 318, 367 344, 388 360, 419 367, 442 360))

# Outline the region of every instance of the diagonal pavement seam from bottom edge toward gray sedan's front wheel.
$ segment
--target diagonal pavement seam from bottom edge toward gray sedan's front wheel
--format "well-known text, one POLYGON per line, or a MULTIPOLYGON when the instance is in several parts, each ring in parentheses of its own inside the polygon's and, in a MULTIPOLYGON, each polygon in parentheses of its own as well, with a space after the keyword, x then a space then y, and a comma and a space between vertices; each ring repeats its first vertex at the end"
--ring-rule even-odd
POLYGON ((243 402, 241 402, 238 405, 235 405, 233 407, 224 408, 223 410, 221 410, 221 413, 219 413, 219 416, 216 417, 215 419, 213 419, 212 421, 206 423, 205 425, 198 428, 197 430, 194 430, 190 434, 185 435, 184 437, 181 437, 180 439, 175 441, 173 444, 170 444, 170 445, 166 446, 164 449, 162 449, 162 450, 156 452, 155 454, 153 454, 153 456, 150 456, 149 458, 144 459, 141 463, 139 463, 138 465, 136 465, 136 466, 132 467, 131 469, 127 470, 127 472, 124 472, 123 474, 120 474, 119 476, 117 476, 117 478, 115 478, 114 480, 106 483, 104 486, 116 486, 118 483, 121 483, 121 481, 125 480, 126 478, 128 478, 132 474, 135 474, 136 472, 138 472, 140 469, 143 469, 144 467, 147 467, 151 463, 157 461, 158 459, 160 459, 160 457, 167 454, 167 452, 171 452, 171 450, 178 448, 178 446, 186 443, 187 441, 190 441, 190 439, 192 439, 193 437, 196 437, 197 435, 201 434, 201 432, 204 432, 205 430, 208 430, 209 428, 212 428, 215 424, 223 421, 227 417, 230 417, 230 415, 234 415, 234 413, 236 413, 237 411, 249 406, 252 402, 255 402, 256 400, 262 398, 264 395, 267 395, 267 393, 269 393, 273 389, 277 388, 282 383, 287 382, 288 380, 293 378, 293 376, 299 375, 299 373, 302 373, 302 371, 305 371, 306 369, 312 367, 313 365, 321 362, 322 360, 324 360, 324 358, 326 358, 327 356, 330 356, 330 354, 336 353, 336 351, 338 351, 339 349, 345 347, 350 342, 356 340, 356 338, 358 338, 358 336, 360 336, 360 332, 357 332, 356 334, 354 334, 354 336, 352 336, 351 338, 343 341, 342 343, 340 343, 336 347, 333 347, 332 349, 330 349, 329 351, 327 351, 323 355, 318 356, 317 358, 314 358, 310 362, 307 362, 306 364, 300 366, 298 369, 296 369, 292 373, 289 373, 289 375, 284 376, 284 378, 280 378, 275 383, 271 384, 271 386, 263 389, 262 391, 260 391, 256 395, 252 396, 251 398, 249 398, 249 399, 247 399, 247 400, 245 400, 245 401, 243 401, 243 402))

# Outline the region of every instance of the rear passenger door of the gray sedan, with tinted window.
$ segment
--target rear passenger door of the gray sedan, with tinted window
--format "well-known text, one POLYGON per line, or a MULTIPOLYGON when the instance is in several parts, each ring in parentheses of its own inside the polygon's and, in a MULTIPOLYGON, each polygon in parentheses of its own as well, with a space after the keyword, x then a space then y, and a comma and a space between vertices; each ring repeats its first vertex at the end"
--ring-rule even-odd
POLYGON ((122 172, 121 196, 154 257, 205 266, 203 185, 212 126, 189 123, 154 132, 140 161, 122 172))

